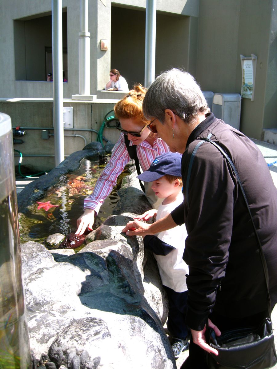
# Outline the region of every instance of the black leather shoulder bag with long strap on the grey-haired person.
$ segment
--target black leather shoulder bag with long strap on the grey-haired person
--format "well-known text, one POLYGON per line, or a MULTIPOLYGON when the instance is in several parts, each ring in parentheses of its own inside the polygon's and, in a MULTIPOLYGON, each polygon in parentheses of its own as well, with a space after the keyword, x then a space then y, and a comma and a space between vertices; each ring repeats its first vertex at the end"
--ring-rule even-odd
POLYGON ((239 175, 232 160, 218 144, 211 141, 209 138, 202 138, 201 140, 202 141, 199 144, 207 141, 210 142, 212 145, 216 146, 216 148, 218 148, 218 150, 222 153, 222 155, 225 156, 225 158, 227 159, 227 161, 229 162, 230 166, 232 167, 233 171, 236 174, 237 182, 239 184, 240 190, 242 191, 243 198, 252 221, 257 243, 259 245, 259 253, 261 257, 261 263, 263 266, 264 278, 266 280, 267 287, 267 311, 268 311, 268 317, 264 318, 260 322, 258 327, 244 327, 239 329, 228 330, 223 332, 219 337, 215 335, 215 332, 211 327, 208 327, 207 323, 206 341, 211 347, 215 348, 219 352, 218 356, 206 352, 207 364, 209 369, 271 368, 276 364, 277 357, 274 346, 274 336, 271 322, 271 304, 268 289, 269 276, 266 265, 266 259, 264 258, 263 249, 261 247, 261 242, 257 234, 256 227, 254 225, 254 221, 250 212, 249 204, 247 202, 242 183, 240 181, 239 175))

